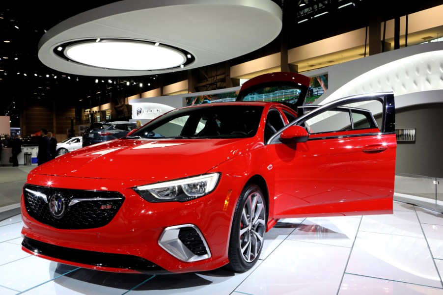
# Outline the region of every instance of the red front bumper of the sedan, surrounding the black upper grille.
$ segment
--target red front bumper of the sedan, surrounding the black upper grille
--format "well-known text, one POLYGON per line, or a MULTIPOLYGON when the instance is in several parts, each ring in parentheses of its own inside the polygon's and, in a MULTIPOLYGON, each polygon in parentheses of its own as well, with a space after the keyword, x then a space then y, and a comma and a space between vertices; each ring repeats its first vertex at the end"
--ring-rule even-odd
POLYGON ((233 189, 226 177, 224 180, 222 177, 211 194, 185 203, 149 203, 132 189, 145 184, 140 181, 32 175, 28 183, 40 186, 46 184, 54 188, 117 191, 125 197, 111 222, 104 226, 60 229, 32 218, 22 196, 22 234, 25 237, 22 248, 36 256, 84 268, 116 272, 203 271, 219 268, 228 262, 228 237, 235 202, 226 203, 226 196, 231 194, 231 189, 238 189, 233 189), (208 249, 207 253, 198 252, 201 243, 199 245, 197 241, 195 245, 194 233, 191 233, 189 241, 194 243, 191 252, 196 251, 198 255, 186 255, 189 254, 187 249, 182 251, 184 256, 174 253, 171 244, 172 248, 183 246, 177 246, 180 240, 176 240, 175 244, 174 241, 169 243, 170 239, 159 242, 162 235, 165 236, 166 228, 183 225, 197 229, 208 249), (121 263, 124 257, 128 258, 128 263, 121 263))

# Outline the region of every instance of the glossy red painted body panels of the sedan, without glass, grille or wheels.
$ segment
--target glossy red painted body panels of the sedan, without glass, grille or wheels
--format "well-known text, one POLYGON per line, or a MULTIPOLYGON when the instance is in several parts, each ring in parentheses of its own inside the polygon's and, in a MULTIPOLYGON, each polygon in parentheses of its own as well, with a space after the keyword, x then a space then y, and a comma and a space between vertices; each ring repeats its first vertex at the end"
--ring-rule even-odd
MULTIPOLYGON (((268 112, 276 108, 287 124, 284 112, 297 117, 295 111, 279 103, 217 105, 239 104, 263 107, 255 136, 117 139, 73 151, 36 167, 28 175, 29 185, 116 191, 125 199, 107 225, 76 230, 59 229, 35 220, 27 212, 22 195, 22 234, 60 247, 134 255, 180 273, 215 269, 229 262, 235 207, 250 182, 264 193, 267 230, 284 217, 392 212, 395 134, 382 134, 377 128, 369 128, 309 134, 306 142, 271 144, 264 140, 268 112), (212 172, 221 173, 214 191, 191 201, 151 203, 133 189, 212 172), (201 231, 210 258, 184 262, 159 245, 165 228, 183 224, 193 224, 201 231)), ((190 108, 197 107, 201 106, 190 108)), ((68 261, 23 249, 83 268, 138 272, 132 268, 68 261)))

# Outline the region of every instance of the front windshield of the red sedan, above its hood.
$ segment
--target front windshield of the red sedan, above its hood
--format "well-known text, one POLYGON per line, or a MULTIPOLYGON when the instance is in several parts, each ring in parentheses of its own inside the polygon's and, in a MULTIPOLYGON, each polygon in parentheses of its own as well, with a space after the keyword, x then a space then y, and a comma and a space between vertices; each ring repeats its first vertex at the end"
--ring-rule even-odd
POLYGON ((257 132, 261 106, 207 106, 171 111, 130 138, 245 138, 257 132))

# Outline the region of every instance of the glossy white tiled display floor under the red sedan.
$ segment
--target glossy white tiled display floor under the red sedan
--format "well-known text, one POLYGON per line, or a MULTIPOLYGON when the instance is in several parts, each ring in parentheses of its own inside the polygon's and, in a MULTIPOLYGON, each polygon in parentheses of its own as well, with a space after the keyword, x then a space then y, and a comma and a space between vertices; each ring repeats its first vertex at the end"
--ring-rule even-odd
POLYGON ((443 295, 443 215, 394 202, 393 215, 282 219, 257 265, 176 275, 118 274, 21 250, 20 215, 0 221, 0 294, 443 295))

